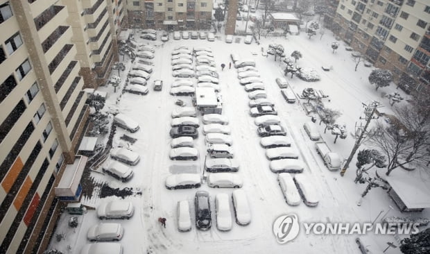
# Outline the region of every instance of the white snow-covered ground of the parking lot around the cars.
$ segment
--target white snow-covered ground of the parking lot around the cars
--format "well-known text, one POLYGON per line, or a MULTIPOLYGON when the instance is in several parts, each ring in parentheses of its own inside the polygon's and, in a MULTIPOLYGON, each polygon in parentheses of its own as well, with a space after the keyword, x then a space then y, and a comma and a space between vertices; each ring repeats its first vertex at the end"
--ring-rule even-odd
MULTIPOLYGON (((357 206, 364 185, 356 185, 355 161, 350 164, 350 169, 344 177, 338 171, 329 171, 314 149, 312 142, 302 128, 304 122, 310 121, 300 103, 289 104, 283 99, 275 78, 283 76, 283 63, 274 62, 273 56, 262 56, 261 47, 268 48, 268 44, 282 44, 289 56, 292 51, 302 52, 303 58, 298 60, 302 67, 316 69, 321 76, 318 82, 307 83, 299 78, 286 77, 290 83, 289 89, 295 93, 301 93, 306 87, 322 90, 329 95, 324 99, 327 108, 340 110, 343 115, 338 122, 345 123, 348 131, 352 132, 356 122, 363 112, 361 103, 373 100, 381 101, 385 105, 384 112, 391 112, 388 99, 381 98, 381 92, 395 91, 395 86, 381 88, 375 92, 375 87, 368 83, 368 75, 372 68, 364 67, 361 63, 357 71, 354 71, 354 61, 350 52, 345 51, 341 45, 332 53, 330 45, 334 42, 331 32, 326 32, 320 40, 316 35, 309 40, 305 33, 287 38, 261 38, 261 44, 250 45, 242 43, 226 44, 224 35, 217 34, 215 42, 203 40, 169 40, 164 44, 157 42, 155 52, 154 71, 148 87, 149 94, 140 96, 125 93, 116 103, 120 92, 114 93, 112 86, 99 87, 98 90, 108 92, 107 103, 103 111, 123 112, 139 122, 140 130, 137 133, 127 133, 117 128, 113 145, 117 146, 121 141, 119 137, 126 133, 137 138, 137 142, 130 146, 132 151, 140 154, 139 164, 133 167, 135 176, 128 183, 121 183, 109 176, 92 173, 92 176, 100 181, 107 181, 111 187, 133 187, 141 189, 142 196, 130 196, 126 198, 135 205, 135 215, 130 220, 119 221, 124 229, 124 237, 121 244, 124 253, 359 253, 354 235, 305 235, 304 230, 293 242, 277 244, 273 235, 273 221, 281 214, 298 214, 299 220, 306 222, 372 222, 381 214, 385 216, 404 217, 398 212, 393 201, 390 201, 386 192, 382 189, 372 189, 365 196, 361 206, 357 206), (208 231, 196 230, 193 224, 191 232, 178 232, 175 216, 176 204, 181 200, 188 200, 191 204, 191 219, 194 222, 193 198, 196 189, 168 190, 164 187, 164 179, 173 172, 170 166, 178 162, 169 160, 170 142, 169 130, 171 128, 171 112, 177 99, 183 99, 191 105, 188 96, 171 96, 170 84, 175 78, 171 76, 171 51, 178 45, 209 46, 214 52, 216 68, 220 75, 221 94, 223 96, 223 115, 230 120, 232 128, 234 157, 240 162, 239 175, 243 179, 243 188, 248 195, 252 212, 252 222, 248 226, 238 226, 234 223, 232 230, 221 232, 216 229, 214 197, 218 193, 232 194, 232 189, 212 189, 203 184, 200 190, 207 190, 211 196, 212 228, 208 231), (277 175, 268 167, 269 161, 265 156, 265 149, 259 145, 260 138, 257 135, 257 127, 254 118, 249 115, 248 95, 239 85, 237 71, 228 68, 231 62, 230 53, 239 53, 241 58, 253 58, 257 62, 257 68, 266 85, 268 98, 275 103, 279 117, 284 121, 288 136, 294 141, 294 146, 300 150, 300 158, 307 167, 302 174, 313 182, 320 198, 316 208, 309 208, 304 203, 297 207, 287 205, 277 183, 277 175), (227 67, 221 71, 221 63, 227 67), (332 66, 331 71, 322 71, 321 66, 332 66), (164 86, 161 92, 153 91, 152 81, 162 79, 164 86), (394 209, 391 210, 390 206, 394 209), (381 213, 381 210, 384 212, 381 213), (166 217, 166 228, 162 228, 157 221, 158 217, 166 217)), ((143 42, 143 40, 142 40, 143 42)), ((123 83, 126 72, 130 69, 131 62, 126 58, 126 71, 121 73, 123 83)), ((117 71, 114 71, 117 74, 117 71)), ((121 85, 123 85, 123 83, 121 85)), ((121 89, 120 89, 121 90, 121 89)), ((304 102, 304 101, 300 101, 304 102)), ((199 116, 201 120, 201 116, 199 116)), ((201 121, 200 121, 201 123, 201 121)), ((317 121, 318 124, 318 121, 317 121)), ((334 136, 323 134, 324 126, 318 126, 323 139, 333 151, 347 158, 354 139, 348 135, 347 139, 338 139, 333 144, 334 136)), ((200 159, 196 162, 197 173, 203 172, 205 160, 205 141, 202 127, 199 128, 199 137, 195 146, 200 151, 200 159)), ((402 169, 396 169, 402 170, 402 169)), ((395 173, 395 172, 393 172, 395 173)), ((420 173, 420 172, 411 172, 420 173)), ((206 173, 205 173, 206 174, 206 173)), ((117 197, 104 198, 105 200, 117 199, 117 197)), ((94 197, 85 201, 95 207, 105 200, 94 197)), ((232 208, 232 205, 231 205, 232 208)), ((79 253, 80 248, 87 243, 86 233, 90 226, 100 222, 94 210, 89 210, 79 218, 79 226, 75 230, 67 227, 70 215, 62 214, 55 233, 64 232, 66 237, 62 242, 56 242, 55 237, 51 242, 51 248, 57 248, 64 253, 79 253), (69 248, 67 247, 69 246, 69 248)), ((379 217, 379 218, 381 218, 379 217)), ((430 217, 430 212, 424 210, 420 217, 430 217)), ((234 218, 234 213, 232 213, 234 218)), ((397 242, 393 236, 377 235, 373 237, 381 250, 386 248, 386 242, 397 242)), ((390 248, 386 253, 399 253, 399 249, 390 248)))

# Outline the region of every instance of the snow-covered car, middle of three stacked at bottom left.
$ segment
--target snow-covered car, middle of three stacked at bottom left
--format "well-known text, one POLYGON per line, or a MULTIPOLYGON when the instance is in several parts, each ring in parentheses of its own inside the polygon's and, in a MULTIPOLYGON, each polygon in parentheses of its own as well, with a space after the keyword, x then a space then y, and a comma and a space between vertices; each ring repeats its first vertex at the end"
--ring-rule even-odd
POLYGON ((124 228, 120 223, 98 223, 87 231, 89 242, 119 241, 123 235, 124 228))

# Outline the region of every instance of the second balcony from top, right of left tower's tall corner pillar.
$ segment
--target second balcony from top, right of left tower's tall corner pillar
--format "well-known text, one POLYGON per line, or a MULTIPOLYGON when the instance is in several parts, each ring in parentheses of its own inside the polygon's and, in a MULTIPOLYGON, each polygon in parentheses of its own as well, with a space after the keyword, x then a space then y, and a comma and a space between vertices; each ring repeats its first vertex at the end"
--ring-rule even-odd
POLYGON ((44 44, 42 44, 44 46, 52 44, 51 48, 45 52, 46 62, 51 62, 55 56, 60 53, 62 48, 71 42, 71 37, 73 37, 72 29, 69 28, 69 26, 59 26, 58 28, 58 32, 54 32, 50 37, 46 38, 44 44), (62 31, 64 32, 61 34, 62 31))

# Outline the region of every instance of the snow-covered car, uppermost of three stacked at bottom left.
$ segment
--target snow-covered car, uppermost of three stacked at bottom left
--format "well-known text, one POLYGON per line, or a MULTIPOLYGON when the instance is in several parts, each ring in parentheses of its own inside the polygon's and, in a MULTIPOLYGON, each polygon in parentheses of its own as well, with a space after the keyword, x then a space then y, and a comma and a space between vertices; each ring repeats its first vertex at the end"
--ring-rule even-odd
POLYGON ((135 207, 130 201, 107 201, 97 208, 98 219, 130 219, 135 207))

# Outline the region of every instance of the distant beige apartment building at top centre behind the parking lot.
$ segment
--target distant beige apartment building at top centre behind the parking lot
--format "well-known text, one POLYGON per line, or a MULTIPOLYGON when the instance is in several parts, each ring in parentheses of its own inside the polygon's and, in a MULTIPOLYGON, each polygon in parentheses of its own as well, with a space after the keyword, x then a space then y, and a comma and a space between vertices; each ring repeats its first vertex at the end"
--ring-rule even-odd
POLYGON ((212 0, 128 0, 128 24, 166 31, 208 29, 213 7, 212 0))

